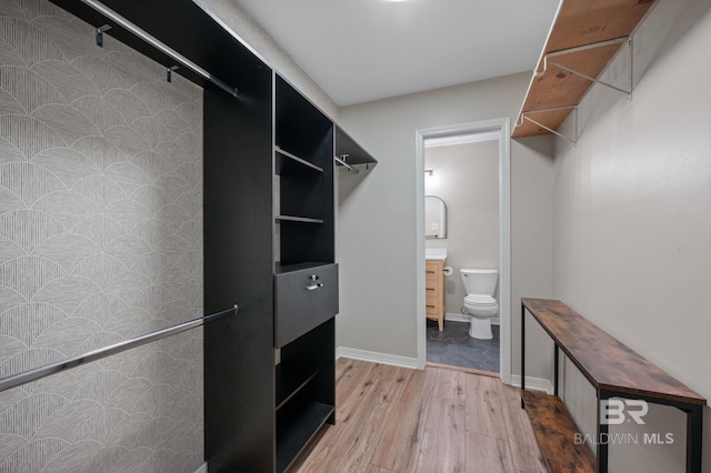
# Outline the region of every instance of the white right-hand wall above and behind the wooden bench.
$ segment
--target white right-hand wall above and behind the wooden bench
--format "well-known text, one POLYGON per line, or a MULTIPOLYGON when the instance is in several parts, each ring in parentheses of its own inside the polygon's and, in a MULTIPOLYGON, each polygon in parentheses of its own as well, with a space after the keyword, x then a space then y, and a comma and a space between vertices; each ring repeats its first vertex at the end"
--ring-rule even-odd
MULTIPOLYGON (((554 296, 707 399, 709 44, 711 3, 658 2, 634 37, 632 101, 595 87, 581 104, 578 144, 557 143, 553 174, 554 296)), ((608 76, 628 73, 620 57, 608 76)), ((594 396, 571 366, 565 401, 594 433, 594 396)), ((653 409, 647 421, 647 432, 671 432, 674 444, 612 446, 610 471, 684 471, 684 415, 653 409)))

